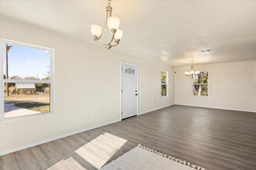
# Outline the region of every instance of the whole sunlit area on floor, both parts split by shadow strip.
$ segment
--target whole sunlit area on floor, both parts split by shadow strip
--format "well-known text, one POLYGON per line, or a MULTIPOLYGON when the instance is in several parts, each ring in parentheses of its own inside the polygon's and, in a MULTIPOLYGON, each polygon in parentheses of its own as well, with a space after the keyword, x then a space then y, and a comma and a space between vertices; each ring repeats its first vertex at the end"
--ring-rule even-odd
MULTIPOLYGON (((84 159, 86 163, 96 169, 100 169, 108 160, 127 142, 126 139, 110 133, 103 133, 84 146, 78 148, 75 153, 84 159)), ((81 161, 81 160, 80 160, 81 161)), ((92 168, 91 167, 91 168, 92 168)), ((60 160, 47 170, 87 170, 71 156, 60 160)))

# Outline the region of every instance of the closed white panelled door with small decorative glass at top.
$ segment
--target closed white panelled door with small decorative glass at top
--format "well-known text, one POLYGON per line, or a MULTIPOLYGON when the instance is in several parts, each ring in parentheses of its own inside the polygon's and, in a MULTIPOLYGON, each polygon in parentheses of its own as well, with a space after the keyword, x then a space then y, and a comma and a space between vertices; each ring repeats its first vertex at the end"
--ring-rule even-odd
POLYGON ((137 115, 138 66, 122 63, 122 119, 137 115))

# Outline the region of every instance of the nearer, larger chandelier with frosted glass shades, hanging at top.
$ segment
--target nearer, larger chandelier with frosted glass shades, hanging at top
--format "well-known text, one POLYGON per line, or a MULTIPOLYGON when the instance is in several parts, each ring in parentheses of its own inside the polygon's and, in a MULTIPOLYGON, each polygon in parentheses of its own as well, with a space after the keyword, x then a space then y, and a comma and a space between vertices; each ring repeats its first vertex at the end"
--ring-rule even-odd
POLYGON ((90 26, 90 32, 93 35, 93 40, 98 42, 98 40, 100 40, 102 34, 105 31, 106 24, 108 24, 109 29, 112 33, 112 38, 106 44, 101 44, 98 42, 101 45, 105 45, 107 49, 112 48, 112 46, 117 46, 123 36, 122 29, 118 29, 120 24, 120 19, 115 16, 112 16, 112 7, 111 7, 110 1, 112 0, 108 0, 108 5, 106 6, 106 21, 105 21, 104 28, 102 29, 100 25, 95 25, 95 24, 90 26), (115 42, 115 44, 112 44, 113 41, 115 42))

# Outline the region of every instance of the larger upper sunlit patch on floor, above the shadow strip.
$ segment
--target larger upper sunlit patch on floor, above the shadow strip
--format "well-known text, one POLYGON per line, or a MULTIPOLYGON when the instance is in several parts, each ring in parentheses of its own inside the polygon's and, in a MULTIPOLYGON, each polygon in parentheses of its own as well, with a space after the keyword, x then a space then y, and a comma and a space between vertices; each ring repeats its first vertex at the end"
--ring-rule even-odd
POLYGON ((100 169, 121 148, 126 139, 110 133, 104 133, 89 143, 77 149, 75 152, 86 162, 100 169))

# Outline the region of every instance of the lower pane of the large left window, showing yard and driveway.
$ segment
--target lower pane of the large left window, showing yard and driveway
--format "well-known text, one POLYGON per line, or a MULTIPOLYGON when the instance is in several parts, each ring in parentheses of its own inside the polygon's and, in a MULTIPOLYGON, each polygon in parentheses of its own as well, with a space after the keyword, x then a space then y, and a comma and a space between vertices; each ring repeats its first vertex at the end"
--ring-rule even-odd
POLYGON ((50 112, 50 89, 50 83, 5 83, 4 117, 50 112))

